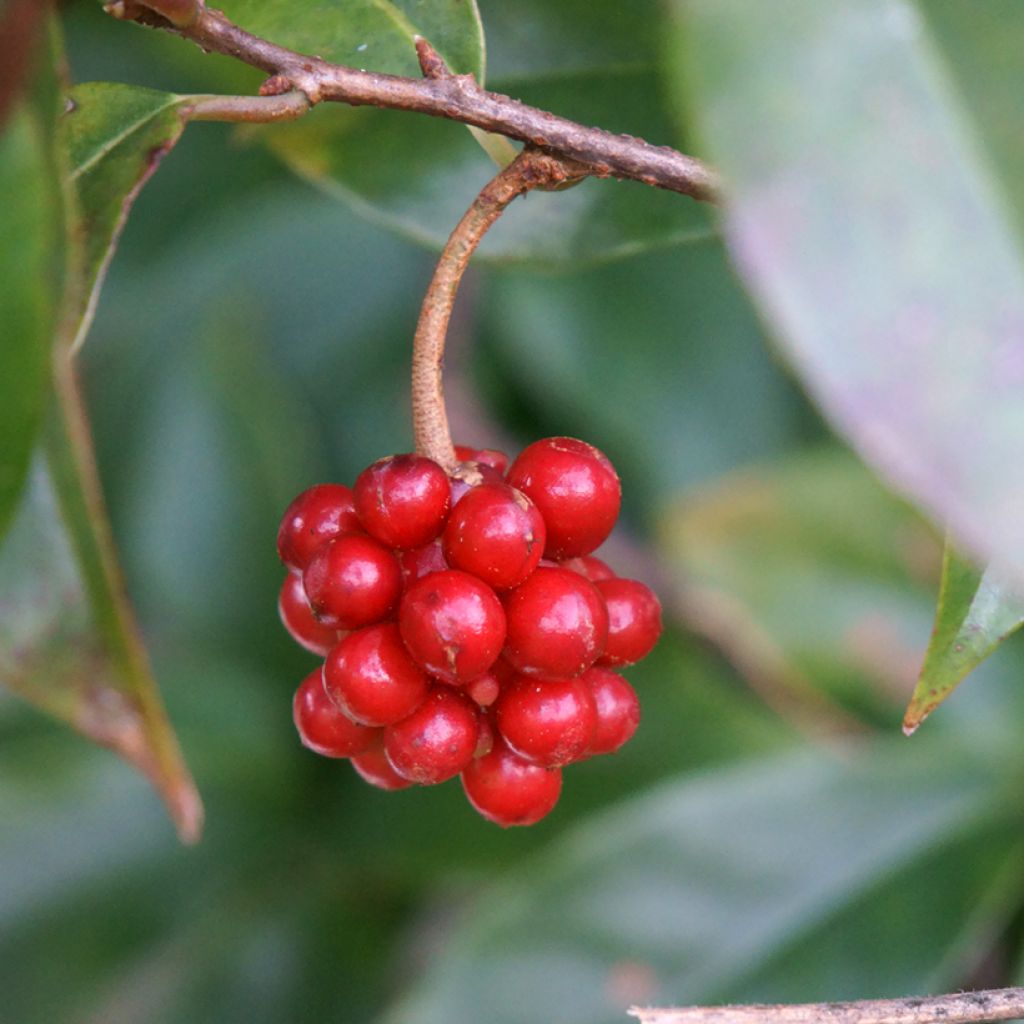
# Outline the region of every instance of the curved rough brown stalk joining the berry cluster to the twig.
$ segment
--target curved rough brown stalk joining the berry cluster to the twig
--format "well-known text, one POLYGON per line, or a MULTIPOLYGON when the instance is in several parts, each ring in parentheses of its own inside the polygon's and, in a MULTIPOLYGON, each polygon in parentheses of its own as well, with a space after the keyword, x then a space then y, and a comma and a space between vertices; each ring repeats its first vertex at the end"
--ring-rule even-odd
POLYGON ((458 460, 449 430, 441 371, 452 309, 466 267, 492 225, 517 196, 592 173, 585 164, 527 145, 480 190, 441 251, 413 339, 413 433, 416 451, 451 473, 458 460))

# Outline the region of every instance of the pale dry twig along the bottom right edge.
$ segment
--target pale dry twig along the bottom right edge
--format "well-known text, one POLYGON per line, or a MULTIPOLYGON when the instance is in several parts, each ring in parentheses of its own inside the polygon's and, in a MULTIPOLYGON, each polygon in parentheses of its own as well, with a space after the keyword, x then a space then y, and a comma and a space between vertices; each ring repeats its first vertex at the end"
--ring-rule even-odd
POLYGON ((793 1006, 633 1007, 630 1014, 641 1024, 985 1024, 1024 1019, 1024 988, 793 1006))

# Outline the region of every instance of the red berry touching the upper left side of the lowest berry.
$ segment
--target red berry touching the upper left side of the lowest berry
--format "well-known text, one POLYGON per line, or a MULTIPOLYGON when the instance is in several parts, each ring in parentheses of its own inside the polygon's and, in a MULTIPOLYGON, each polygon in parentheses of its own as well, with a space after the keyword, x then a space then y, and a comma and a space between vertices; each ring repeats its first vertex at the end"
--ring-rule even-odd
POLYGON ((469 764, 479 733, 473 701, 451 686, 432 686, 412 715, 384 730, 384 753, 402 778, 434 785, 469 764))

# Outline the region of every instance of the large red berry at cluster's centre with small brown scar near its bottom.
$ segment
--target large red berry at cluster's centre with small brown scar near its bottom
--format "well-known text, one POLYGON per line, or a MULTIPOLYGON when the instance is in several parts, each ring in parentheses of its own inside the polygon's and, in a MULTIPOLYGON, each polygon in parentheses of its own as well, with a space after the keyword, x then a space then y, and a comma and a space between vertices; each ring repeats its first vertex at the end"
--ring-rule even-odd
POLYGON ((505 642, 505 612, 498 596, 458 569, 417 580, 398 605, 398 626, 416 662, 455 686, 482 676, 505 642))

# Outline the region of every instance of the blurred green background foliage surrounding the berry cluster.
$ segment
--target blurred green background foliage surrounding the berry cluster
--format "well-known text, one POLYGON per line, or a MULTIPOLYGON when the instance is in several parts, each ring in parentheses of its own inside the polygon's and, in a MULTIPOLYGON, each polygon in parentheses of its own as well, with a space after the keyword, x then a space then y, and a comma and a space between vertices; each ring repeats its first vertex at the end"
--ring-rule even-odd
MULTIPOLYGON (((492 79, 682 139, 658 4, 480 9, 492 79)), ((258 82, 92 0, 63 13, 77 81, 258 82)), ((382 183, 436 237, 488 171, 475 152, 471 167, 411 166, 410 139, 431 160, 468 139, 411 120, 353 116, 342 184, 382 183)), ((508 833, 455 783, 382 794, 299 746, 291 694, 313 662, 276 622, 278 518, 310 482, 410 446, 431 254, 258 137, 188 128, 132 213, 82 359, 206 835, 182 849, 141 778, 0 696, 0 1021, 603 1024, 633 1001, 1011 980, 1021 647, 923 736, 898 736, 938 544, 775 365, 722 242, 678 197, 588 182, 514 207, 495 244, 515 265, 496 252, 473 271, 450 359, 453 414, 474 425, 462 440, 580 434, 620 470, 610 557, 657 581, 671 612, 629 673, 636 738, 508 833), (644 206, 666 200, 699 240, 644 206), (629 258, 603 262, 616 246, 629 258)))

